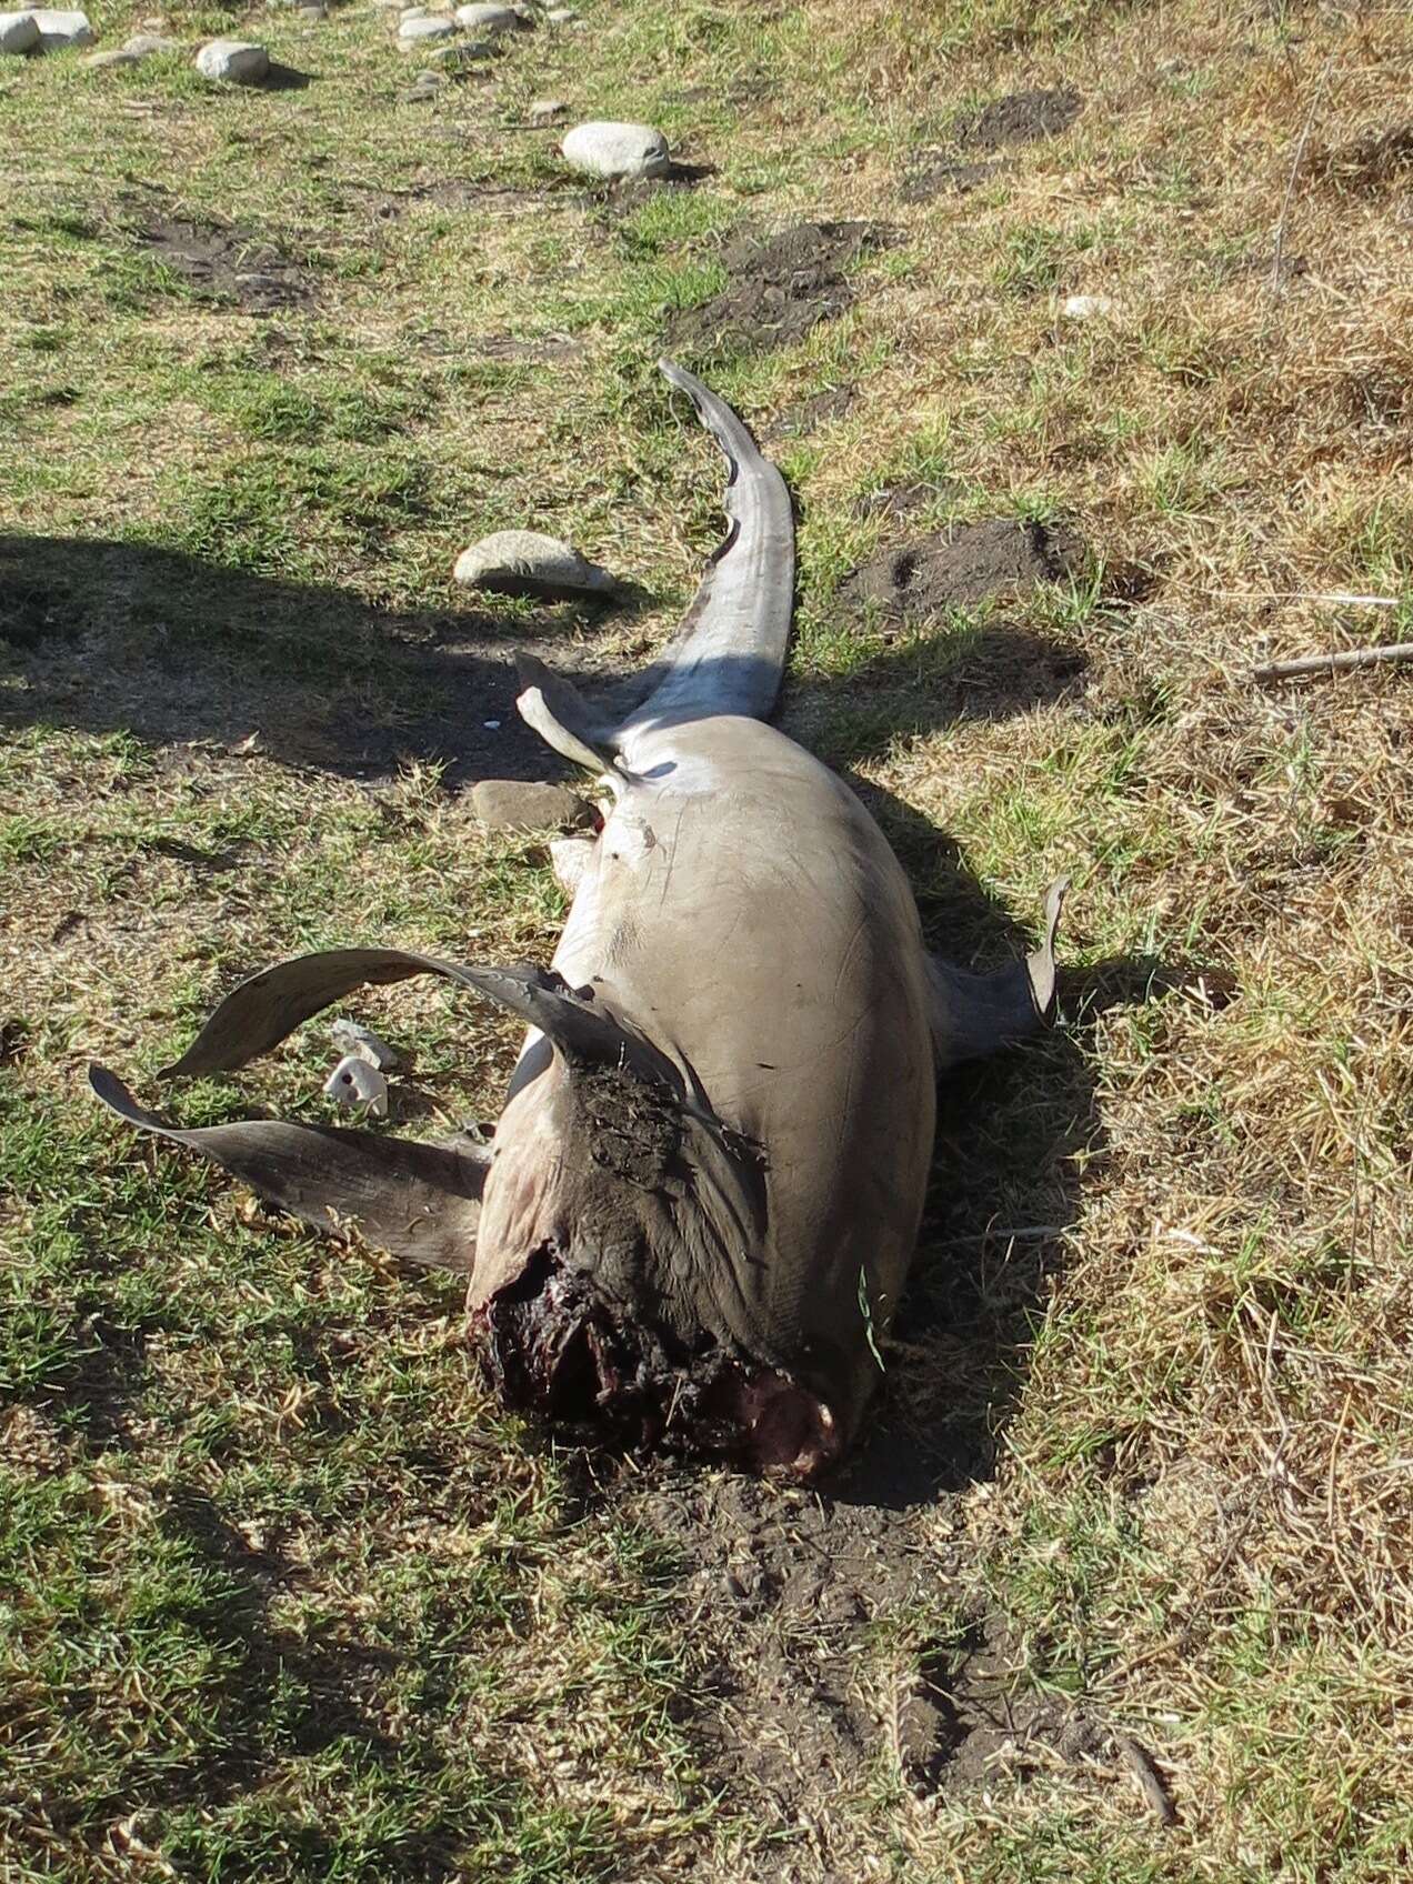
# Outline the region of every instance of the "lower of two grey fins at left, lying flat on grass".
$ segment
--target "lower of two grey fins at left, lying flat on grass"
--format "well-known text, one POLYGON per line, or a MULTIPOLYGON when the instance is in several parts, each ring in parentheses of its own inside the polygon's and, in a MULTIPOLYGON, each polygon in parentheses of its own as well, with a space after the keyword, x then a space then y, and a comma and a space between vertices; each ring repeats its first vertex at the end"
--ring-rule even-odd
POLYGON ((126 1125, 198 1151, 324 1236, 358 1230, 420 1268, 471 1272, 488 1147, 452 1151, 283 1119, 181 1130, 143 1112, 106 1066, 89 1066, 89 1085, 126 1125))

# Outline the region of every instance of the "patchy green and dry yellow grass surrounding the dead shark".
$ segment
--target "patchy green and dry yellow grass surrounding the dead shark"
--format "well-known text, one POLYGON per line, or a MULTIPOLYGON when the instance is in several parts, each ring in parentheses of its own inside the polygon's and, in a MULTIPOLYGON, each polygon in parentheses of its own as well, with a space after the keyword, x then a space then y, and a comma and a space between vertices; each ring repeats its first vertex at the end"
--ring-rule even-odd
MULTIPOLYGON (((582 11, 433 106, 398 102, 413 66, 356 8, 170 11, 192 41, 268 40, 305 90, 219 94, 179 57, 0 72, 23 181, 0 232, 0 1875, 1402 1878, 1407 680, 1247 669, 1407 639, 1407 17, 582 11), (1068 132, 966 194, 897 196, 980 107, 1066 83, 1068 132), (524 128, 537 96, 658 121, 716 170, 629 209, 565 187, 524 128), (213 301, 134 241, 158 215, 247 232, 298 296, 213 301), (301 948, 548 959, 563 895, 439 767, 437 661, 467 656, 480 727, 514 639, 639 659, 671 625, 718 473, 652 371, 661 324, 723 284, 723 237, 806 217, 899 239, 840 320, 716 373, 759 428, 855 392, 772 447, 801 516, 786 723, 852 769, 957 959, 1004 955, 1074 876, 1064 1025, 944 1095, 916 1302, 882 1343, 889 1419, 965 1470, 880 1530, 923 1588, 842 1633, 791 1609, 803 1545, 761 1616, 720 1607, 757 1541, 701 1519, 720 1475, 522 1430, 450 1283, 268 1219, 109 1129, 81 1078, 98 1055, 151 1095, 237 974, 301 948), (1066 320, 1070 294, 1113 307, 1066 320), (859 505, 912 482, 934 490, 916 522, 859 505), (897 639, 840 614, 880 546, 999 514, 1074 524, 1085 578, 897 639), (473 609, 454 556, 507 524, 650 605, 473 609), (1400 607, 1311 599, 1332 590, 1400 607), (1076 658, 1057 688, 1046 650, 1076 658), (347 761, 367 725, 401 771, 347 761), (933 1669, 961 1705, 978 1632, 1019 1726, 919 1797, 893 1699, 933 1669), (739 1758, 803 1735, 752 1688, 772 1658, 861 1724, 788 1799, 739 1758)), ((102 43, 138 17, 94 13, 102 43)), ((420 983, 358 1012, 414 1055, 411 1129, 495 1115, 505 1021, 420 983)), ((326 1117, 326 1066, 311 1023, 173 1108, 326 1117)), ((827 1535, 852 1522, 831 1507, 827 1535)))

